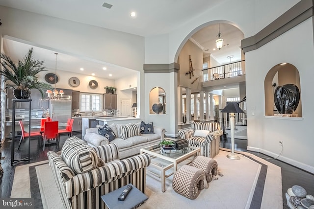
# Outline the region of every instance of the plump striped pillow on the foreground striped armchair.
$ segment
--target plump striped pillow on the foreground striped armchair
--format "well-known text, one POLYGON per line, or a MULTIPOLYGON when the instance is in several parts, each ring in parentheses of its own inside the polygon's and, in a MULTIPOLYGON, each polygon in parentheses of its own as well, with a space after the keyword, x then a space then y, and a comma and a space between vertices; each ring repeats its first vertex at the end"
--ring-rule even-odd
POLYGON ((61 149, 61 158, 76 174, 91 171, 98 166, 95 149, 77 137, 65 140, 61 149))

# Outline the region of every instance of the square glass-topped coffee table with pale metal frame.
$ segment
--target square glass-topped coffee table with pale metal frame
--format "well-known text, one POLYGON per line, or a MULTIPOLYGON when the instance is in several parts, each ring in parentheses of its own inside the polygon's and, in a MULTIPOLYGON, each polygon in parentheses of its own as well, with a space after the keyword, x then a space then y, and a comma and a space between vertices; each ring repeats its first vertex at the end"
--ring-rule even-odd
MULTIPOLYGON (((141 149, 141 154, 147 153, 151 156, 150 166, 157 168, 161 176, 161 190, 162 192, 166 191, 166 178, 173 175, 178 169, 178 164, 184 162, 185 164, 191 163, 194 159, 193 156, 200 155, 201 148, 199 147, 185 147, 180 150, 175 150, 167 153, 162 153, 160 145, 152 145, 141 149), (173 168, 173 172, 167 173, 166 171, 170 168, 173 168)), ((156 174, 156 173, 154 173, 156 174)))

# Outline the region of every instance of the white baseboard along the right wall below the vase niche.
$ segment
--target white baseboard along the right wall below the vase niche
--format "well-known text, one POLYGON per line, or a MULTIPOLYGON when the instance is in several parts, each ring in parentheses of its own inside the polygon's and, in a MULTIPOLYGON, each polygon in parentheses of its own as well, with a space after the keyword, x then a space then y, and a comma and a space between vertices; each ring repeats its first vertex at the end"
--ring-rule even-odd
MULTIPOLYGON (((258 147, 248 146, 247 150, 253 151, 253 152, 260 152, 262 154, 268 155, 268 156, 273 157, 273 158, 276 158, 278 156, 277 153, 269 152, 268 150, 260 149, 258 147)), ((282 161, 282 162, 288 163, 290 165, 293 165, 295 167, 298 167, 300 169, 306 170, 306 171, 314 174, 314 167, 313 166, 307 165, 305 163, 300 163, 298 161, 292 160, 292 159, 287 158, 285 156, 279 156, 277 159, 282 161)))

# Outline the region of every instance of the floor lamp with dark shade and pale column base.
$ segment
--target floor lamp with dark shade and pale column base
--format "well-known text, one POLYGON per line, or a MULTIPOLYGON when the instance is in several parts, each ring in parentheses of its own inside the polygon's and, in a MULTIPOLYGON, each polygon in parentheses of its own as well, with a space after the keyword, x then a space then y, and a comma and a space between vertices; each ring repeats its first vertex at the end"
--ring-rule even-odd
POLYGON ((230 132, 231 132, 231 154, 227 158, 231 160, 240 160, 240 157, 235 155, 235 113, 244 113, 236 102, 228 102, 226 107, 222 109, 222 113, 230 113, 230 132))

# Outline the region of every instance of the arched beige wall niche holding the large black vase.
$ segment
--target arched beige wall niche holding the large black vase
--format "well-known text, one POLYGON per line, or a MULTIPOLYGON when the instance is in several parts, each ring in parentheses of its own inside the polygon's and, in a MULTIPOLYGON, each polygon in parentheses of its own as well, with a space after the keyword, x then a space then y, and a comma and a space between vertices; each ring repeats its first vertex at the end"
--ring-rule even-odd
POLYGON ((278 86, 285 84, 294 84, 299 88, 300 101, 294 111, 293 115, 302 117, 302 102, 301 102, 301 84, 299 70, 292 64, 281 63, 271 68, 264 80, 264 91, 265 91, 265 116, 274 116, 277 112, 275 111, 274 104, 274 93, 278 86))

